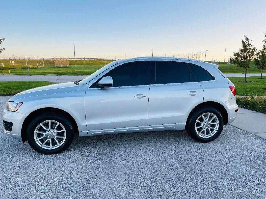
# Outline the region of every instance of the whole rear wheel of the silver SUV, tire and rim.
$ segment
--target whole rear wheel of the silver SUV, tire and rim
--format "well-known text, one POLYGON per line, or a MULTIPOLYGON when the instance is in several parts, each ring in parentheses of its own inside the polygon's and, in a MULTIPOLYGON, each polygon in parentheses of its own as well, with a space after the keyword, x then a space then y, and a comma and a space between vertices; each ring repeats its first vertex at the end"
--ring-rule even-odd
POLYGON ((186 130, 198 142, 213 141, 223 130, 223 117, 213 107, 202 107, 192 114, 186 130))

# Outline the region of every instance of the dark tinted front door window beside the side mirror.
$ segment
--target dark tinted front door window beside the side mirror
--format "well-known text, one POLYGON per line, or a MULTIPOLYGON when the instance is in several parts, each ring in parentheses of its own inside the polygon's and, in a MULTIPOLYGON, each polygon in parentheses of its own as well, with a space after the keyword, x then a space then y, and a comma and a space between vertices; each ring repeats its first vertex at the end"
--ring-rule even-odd
MULTIPOLYGON (((113 86, 149 85, 151 63, 152 62, 132 62, 123 64, 109 71, 103 77, 111 76, 113 78, 113 86)), ((90 88, 96 88, 98 81, 90 88)))

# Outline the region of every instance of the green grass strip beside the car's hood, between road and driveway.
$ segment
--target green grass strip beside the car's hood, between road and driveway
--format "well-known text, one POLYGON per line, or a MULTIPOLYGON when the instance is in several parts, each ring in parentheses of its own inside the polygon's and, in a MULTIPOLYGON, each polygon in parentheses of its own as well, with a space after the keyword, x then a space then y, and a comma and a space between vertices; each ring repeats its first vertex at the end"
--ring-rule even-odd
POLYGON ((0 81, 0 96, 14 95, 24 90, 54 84, 49 81, 0 81))

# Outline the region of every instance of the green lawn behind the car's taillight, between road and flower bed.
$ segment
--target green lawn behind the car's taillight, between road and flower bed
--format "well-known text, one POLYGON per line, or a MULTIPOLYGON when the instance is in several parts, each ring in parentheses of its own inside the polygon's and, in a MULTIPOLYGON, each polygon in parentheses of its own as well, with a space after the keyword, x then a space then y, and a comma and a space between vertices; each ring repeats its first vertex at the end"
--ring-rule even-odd
POLYGON ((244 77, 228 78, 236 87, 236 95, 266 95, 266 78, 247 77, 247 83, 244 82, 244 77))

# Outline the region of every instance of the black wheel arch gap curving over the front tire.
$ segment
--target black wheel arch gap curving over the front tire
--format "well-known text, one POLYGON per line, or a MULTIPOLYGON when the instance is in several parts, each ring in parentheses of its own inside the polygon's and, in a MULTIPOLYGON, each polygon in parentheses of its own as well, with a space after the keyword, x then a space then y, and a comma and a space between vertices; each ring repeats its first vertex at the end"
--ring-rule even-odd
POLYGON ((24 119, 22 127, 21 127, 21 138, 22 138, 22 142, 26 142, 27 141, 27 137, 26 137, 26 131, 27 131, 27 126, 30 123, 31 119, 34 118, 35 116, 41 114, 41 113, 47 113, 47 112, 55 112, 55 113, 59 113, 62 114, 64 116, 67 116, 73 123, 74 125, 74 131, 75 133, 78 133, 78 125, 77 122, 75 121, 75 119, 66 111, 62 110, 62 109, 58 109, 58 108, 53 108, 53 107, 45 107, 45 108, 40 108, 37 110, 32 111, 29 115, 27 115, 27 117, 24 119))

